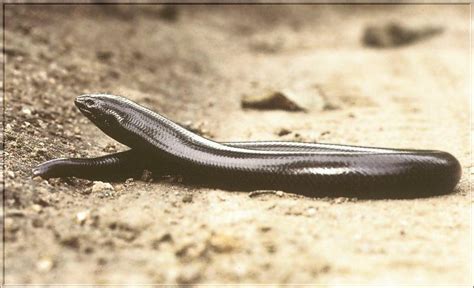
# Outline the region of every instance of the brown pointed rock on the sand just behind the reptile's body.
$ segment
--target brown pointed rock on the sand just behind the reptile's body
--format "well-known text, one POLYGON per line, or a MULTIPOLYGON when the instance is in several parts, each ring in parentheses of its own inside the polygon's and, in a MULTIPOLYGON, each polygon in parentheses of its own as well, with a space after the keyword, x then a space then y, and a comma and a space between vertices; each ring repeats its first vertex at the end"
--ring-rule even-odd
POLYGON ((241 100, 243 108, 258 110, 306 111, 296 103, 290 92, 271 90, 263 94, 244 95, 241 100))

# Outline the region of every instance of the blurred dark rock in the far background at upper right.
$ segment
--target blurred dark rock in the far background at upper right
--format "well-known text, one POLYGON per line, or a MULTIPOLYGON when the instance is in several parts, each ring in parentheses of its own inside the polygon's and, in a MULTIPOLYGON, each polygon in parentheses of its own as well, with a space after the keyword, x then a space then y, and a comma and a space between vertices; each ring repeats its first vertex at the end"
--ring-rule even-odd
POLYGON ((433 37, 441 32, 443 32, 441 27, 409 28, 391 22, 382 26, 366 27, 362 42, 366 46, 376 48, 398 47, 433 37))

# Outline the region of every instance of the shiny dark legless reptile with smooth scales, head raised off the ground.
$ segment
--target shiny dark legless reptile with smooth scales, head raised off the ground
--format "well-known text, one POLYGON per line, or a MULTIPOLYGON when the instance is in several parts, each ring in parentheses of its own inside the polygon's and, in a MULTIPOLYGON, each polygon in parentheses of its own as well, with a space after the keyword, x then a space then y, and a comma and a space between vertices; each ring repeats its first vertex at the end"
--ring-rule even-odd
POLYGON ((298 142, 217 143, 122 97, 84 95, 76 105, 103 132, 132 150, 94 159, 48 161, 35 168, 34 175, 90 179, 147 168, 211 187, 359 198, 444 194, 452 191, 461 175, 456 158, 442 151, 298 142))

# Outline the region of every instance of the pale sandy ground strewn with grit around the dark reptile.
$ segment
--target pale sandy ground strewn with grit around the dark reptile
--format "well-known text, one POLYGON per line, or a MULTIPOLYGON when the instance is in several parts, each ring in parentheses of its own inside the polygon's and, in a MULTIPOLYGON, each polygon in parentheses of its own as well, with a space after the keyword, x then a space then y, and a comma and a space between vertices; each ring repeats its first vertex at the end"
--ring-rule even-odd
POLYGON ((8 5, 5 282, 469 284, 469 17, 468 5, 8 5), (365 47, 364 27, 387 21, 444 32, 365 47), (241 108, 266 89, 308 112, 241 108), (123 149, 74 107, 87 92, 217 140, 446 150, 464 174, 450 195, 379 201, 31 179, 48 159, 123 149))

